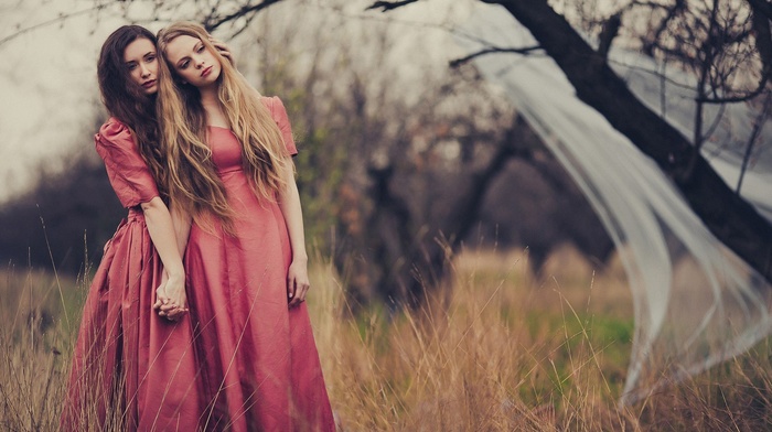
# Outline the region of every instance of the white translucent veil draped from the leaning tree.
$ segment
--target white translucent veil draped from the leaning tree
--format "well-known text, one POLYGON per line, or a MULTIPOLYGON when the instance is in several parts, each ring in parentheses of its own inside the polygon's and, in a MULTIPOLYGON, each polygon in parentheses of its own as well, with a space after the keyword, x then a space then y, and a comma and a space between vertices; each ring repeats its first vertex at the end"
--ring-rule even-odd
MULTIPOLYGON (((470 53, 536 44, 498 6, 479 7, 459 34, 470 53)), ((550 57, 491 54, 474 62, 579 184, 616 245, 635 314, 621 403, 741 354, 770 333, 772 287, 708 231, 651 159, 576 97, 550 57)), ((668 79, 660 79, 662 68, 636 53, 612 52, 611 63, 639 98, 691 137, 693 78, 667 71, 668 79)), ((706 110, 716 128, 703 153, 732 188, 758 116, 742 104, 706 110)), ((772 152, 764 153, 772 126, 760 131, 741 192, 772 219, 772 152)))

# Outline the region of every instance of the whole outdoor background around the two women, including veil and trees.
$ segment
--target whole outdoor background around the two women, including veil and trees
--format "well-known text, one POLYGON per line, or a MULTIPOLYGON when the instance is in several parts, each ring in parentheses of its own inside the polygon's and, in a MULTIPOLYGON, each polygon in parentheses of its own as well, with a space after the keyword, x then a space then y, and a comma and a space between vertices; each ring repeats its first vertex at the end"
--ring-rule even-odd
POLYGON ((287 107, 353 430, 772 424, 772 3, 0 0, 0 428, 57 424, 126 215, 99 48, 179 20, 287 107))

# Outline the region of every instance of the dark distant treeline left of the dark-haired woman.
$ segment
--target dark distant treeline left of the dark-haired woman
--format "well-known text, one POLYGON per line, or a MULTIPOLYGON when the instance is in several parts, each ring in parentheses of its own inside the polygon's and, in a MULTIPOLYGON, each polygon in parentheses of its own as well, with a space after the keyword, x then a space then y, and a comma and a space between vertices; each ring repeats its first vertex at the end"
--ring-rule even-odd
POLYGON ((75 274, 101 258, 126 210, 96 152, 77 151, 64 165, 42 170, 26 194, 0 207, 4 266, 75 274))

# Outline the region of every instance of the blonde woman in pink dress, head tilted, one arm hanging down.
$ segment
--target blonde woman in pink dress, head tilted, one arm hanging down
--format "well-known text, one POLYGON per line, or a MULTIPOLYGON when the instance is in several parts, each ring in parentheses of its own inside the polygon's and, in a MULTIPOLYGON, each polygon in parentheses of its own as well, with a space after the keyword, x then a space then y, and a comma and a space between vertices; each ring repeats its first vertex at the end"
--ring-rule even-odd
POLYGON ((285 107, 194 23, 158 35, 159 119, 185 270, 202 428, 333 431, 305 307, 308 257, 285 107), (182 248, 183 245, 181 244, 182 248))

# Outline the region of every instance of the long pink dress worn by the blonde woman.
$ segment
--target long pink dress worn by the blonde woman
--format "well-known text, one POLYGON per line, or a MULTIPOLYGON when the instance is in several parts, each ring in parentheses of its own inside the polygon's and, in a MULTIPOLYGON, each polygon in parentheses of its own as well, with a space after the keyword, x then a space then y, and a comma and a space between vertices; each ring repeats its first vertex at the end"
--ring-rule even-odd
MULTIPOLYGON (((264 98, 289 154, 297 150, 279 98, 264 98)), ((196 333, 202 428, 228 431, 334 431, 304 303, 289 309, 292 250, 277 203, 258 199, 242 170, 229 129, 208 127, 208 144, 228 202, 235 236, 194 225, 185 252, 196 333)))

